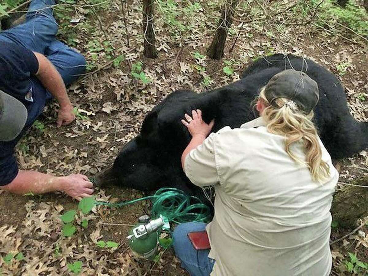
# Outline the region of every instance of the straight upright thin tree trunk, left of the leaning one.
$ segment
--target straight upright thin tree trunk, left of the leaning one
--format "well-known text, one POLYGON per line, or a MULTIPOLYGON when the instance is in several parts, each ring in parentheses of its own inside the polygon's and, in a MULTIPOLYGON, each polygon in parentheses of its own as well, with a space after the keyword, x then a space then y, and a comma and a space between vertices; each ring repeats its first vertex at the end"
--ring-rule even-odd
POLYGON ((143 39, 144 56, 157 57, 155 32, 153 31, 153 0, 143 0, 143 39))

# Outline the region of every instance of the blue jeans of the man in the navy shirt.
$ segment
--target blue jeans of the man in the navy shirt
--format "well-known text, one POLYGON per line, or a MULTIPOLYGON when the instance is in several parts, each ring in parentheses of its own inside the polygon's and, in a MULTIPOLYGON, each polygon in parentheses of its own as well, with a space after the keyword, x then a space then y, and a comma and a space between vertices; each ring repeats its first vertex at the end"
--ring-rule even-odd
MULTIPOLYGON (((85 72, 84 57, 56 39, 57 23, 53 17, 54 0, 33 0, 26 14, 26 22, 0 32, 0 40, 13 42, 44 54, 56 67, 65 85, 70 85, 85 72)), ((35 89, 46 89, 37 78, 31 78, 35 89)), ((51 96, 49 97, 51 98, 51 96)))

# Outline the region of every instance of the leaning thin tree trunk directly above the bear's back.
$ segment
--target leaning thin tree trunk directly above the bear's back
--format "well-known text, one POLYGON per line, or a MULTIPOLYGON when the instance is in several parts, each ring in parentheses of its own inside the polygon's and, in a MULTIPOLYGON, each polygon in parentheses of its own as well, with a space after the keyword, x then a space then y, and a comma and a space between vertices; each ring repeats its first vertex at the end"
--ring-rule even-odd
POLYGON ((227 37, 227 30, 233 23, 233 15, 235 8, 238 6, 239 0, 226 0, 222 8, 221 18, 217 25, 215 37, 211 45, 207 49, 207 56, 210 59, 219 60, 224 56, 224 49, 227 37))

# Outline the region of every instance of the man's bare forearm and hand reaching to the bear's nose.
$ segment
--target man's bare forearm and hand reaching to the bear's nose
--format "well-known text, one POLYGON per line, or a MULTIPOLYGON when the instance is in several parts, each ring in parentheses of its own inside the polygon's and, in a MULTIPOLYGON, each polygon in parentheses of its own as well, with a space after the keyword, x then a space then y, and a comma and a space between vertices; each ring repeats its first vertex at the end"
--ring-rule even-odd
POLYGON ((14 194, 45 194, 47 192, 61 191, 73 198, 81 200, 93 193, 93 184, 88 177, 82 174, 71 174, 70 176, 50 176, 37 171, 19 171, 14 180, 1 189, 14 194))

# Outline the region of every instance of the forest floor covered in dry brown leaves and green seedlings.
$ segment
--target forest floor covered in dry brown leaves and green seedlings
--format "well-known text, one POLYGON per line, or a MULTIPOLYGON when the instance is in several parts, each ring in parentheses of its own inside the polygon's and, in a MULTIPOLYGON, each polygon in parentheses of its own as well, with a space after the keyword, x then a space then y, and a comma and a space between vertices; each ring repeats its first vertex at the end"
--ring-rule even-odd
MULTIPOLYGON (((328 68, 346 87, 353 116, 368 121, 367 35, 333 19, 323 24, 329 19, 316 6, 288 0, 241 1, 225 56, 214 61, 205 53, 220 15, 220 0, 156 1, 158 59, 143 57, 141 1, 95 0, 93 6, 84 4, 91 1, 66 2, 71 4, 55 6, 59 38, 88 61, 88 73, 68 89, 78 109, 77 120, 56 128, 56 103, 45 107, 17 146, 21 169, 92 177, 112 164, 122 146, 137 135, 145 114, 169 93, 203 92, 229 84, 252 60, 272 53, 306 56, 328 68), (70 23, 71 19, 79 21, 70 23), (135 78, 131 72, 143 73, 135 78)), ((367 176, 367 152, 339 160, 336 166, 341 183, 367 176)), ((95 194, 98 200, 112 202, 143 196, 117 187, 97 189, 95 194)), ((78 226, 76 234, 63 237, 60 215, 77 204, 61 193, 17 196, 0 191, 0 275, 72 275, 73 269, 78 271, 77 261, 80 275, 186 275, 171 248, 161 249, 156 261, 137 259, 128 248, 127 231, 139 216, 149 213, 149 202, 119 209, 95 207, 86 216, 86 229, 78 226), (100 248, 101 240, 119 245, 100 248), (24 258, 5 258, 18 252, 24 258), (73 263, 75 267, 68 266, 73 263)), ((335 226, 331 240, 349 231, 335 226)), ((332 245, 332 275, 353 275, 345 264, 354 258, 349 253, 368 263, 367 252, 364 226, 332 245)), ((360 269, 359 275, 366 272, 360 269)))

